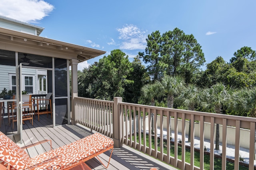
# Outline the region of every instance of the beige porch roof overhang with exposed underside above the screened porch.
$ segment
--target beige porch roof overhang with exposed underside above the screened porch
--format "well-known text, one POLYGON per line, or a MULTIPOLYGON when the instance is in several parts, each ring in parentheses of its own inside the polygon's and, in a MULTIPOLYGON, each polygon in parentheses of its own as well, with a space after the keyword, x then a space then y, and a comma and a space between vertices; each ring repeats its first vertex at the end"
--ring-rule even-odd
POLYGON ((62 59, 77 59, 79 63, 106 53, 106 51, 65 43, 1 27, 0 49, 62 59))

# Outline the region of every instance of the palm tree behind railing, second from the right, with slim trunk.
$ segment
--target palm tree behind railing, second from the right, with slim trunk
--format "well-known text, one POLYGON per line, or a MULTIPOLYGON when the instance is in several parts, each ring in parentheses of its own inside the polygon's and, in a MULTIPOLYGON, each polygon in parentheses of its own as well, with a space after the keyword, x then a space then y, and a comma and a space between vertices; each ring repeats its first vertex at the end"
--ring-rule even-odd
MULTIPOLYGON (((230 102, 231 92, 232 88, 228 90, 226 86, 222 83, 217 83, 210 88, 205 88, 202 93, 204 100, 203 102, 201 102, 203 109, 205 109, 208 112, 221 114, 224 105, 230 102)), ((219 142, 220 127, 219 124, 216 124, 216 150, 220 150, 219 142)))

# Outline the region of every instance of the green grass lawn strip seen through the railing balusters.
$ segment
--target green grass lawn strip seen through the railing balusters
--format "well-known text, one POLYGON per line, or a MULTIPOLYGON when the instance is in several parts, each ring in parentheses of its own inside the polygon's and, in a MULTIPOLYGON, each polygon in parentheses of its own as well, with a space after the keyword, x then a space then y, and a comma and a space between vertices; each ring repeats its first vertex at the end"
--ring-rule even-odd
MULTIPOLYGON (((142 135, 142 141, 141 143, 143 143, 143 134, 142 135)), ((134 136, 132 136, 132 139, 134 140, 134 136)), ((147 143, 147 147, 149 146, 148 145, 148 135, 146 136, 146 143, 147 143)), ((154 145, 154 137, 152 137, 152 149, 154 149, 155 145, 154 145)), ((138 134, 137 134, 137 142, 138 142, 138 134)), ((160 143, 160 139, 158 139, 158 144, 160 143)), ((158 150, 160 151, 160 147, 158 147, 158 150)), ((164 147, 164 153, 167 154, 167 148, 164 147)), ((178 159, 182 159, 182 147, 178 146, 178 159)), ((174 156, 174 145, 171 145, 171 148, 170 148, 170 155, 171 156, 174 156)), ((186 149, 186 152, 185 152, 185 161, 190 163, 190 149, 186 149)), ((222 166, 222 163, 221 163, 221 159, 220 158, 214 158, 214 170, 221 170, 221 166, 222 166)), ((194 165, 195 166, 198 166, 200 167, 200 152, 194 152, 194 165)), ((208 154, 204 154, 204 169, 205 170, 209 170, 210 169, 210 155, 208 154)), ((239 169, 240 170, 248 170, 249 168, 247 167, 244 167, 244 166, 239 166, 239 169)), ((234 170, 234 164, 231 163, 231 162, 227 162, 226 163, 226 170, 234 170)))

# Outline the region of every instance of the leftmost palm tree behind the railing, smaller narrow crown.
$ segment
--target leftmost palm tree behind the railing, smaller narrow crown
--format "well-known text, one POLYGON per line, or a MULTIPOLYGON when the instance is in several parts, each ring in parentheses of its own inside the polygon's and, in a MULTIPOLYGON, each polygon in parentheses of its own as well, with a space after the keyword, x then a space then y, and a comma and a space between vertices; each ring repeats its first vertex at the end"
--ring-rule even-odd
MULTIPOLYGON (((155 98, 158 96, 159 90, 155 84, 146 84, 142 86, 142 95, 146 100, 150 101, 151 106, 155 106, 155 98)), ((154 113, 150 113, 151 116, 151 134, 154 135, 154 113)))

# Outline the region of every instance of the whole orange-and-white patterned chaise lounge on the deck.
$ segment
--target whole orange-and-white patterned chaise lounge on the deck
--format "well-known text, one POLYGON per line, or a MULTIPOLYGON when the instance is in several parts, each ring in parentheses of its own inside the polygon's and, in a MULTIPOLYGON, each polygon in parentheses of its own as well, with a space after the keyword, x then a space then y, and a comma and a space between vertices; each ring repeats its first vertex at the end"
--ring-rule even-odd
MULTIPOLYGON (((100 133, 94 133, 63 147, 39 154, 33 158, 30 158, 27 152, 23 150, 44 142, 49 142, 49 140, 40 141, 21 148, 0 132, 0 170, 69 170, 78 166, 86 166, 86 164, 84 164, 85 161, 94 157, 98 158, 99 154, 110 149, 112 149, 110 154, 111 158, 114 148, 114 141, 112 139, 100 133)), ((99 158, 98 160, 101 162, 99 158)), ((108 165, 105 166, 103 164, 105 168, 108 168, 108 165)), ((88 166, 87 168, 89 169, 88 166)))

